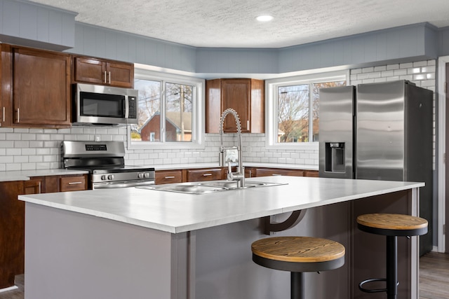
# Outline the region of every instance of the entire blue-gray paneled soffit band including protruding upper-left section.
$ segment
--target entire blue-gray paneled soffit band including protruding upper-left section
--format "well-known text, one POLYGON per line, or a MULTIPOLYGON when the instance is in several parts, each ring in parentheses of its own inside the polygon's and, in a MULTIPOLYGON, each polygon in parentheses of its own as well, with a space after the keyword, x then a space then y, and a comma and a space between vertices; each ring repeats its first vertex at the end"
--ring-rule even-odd
POLYGON ((75 22, 77 13, 0 0, 0 41, 137 62, 203 78, 279 75, 329 67, 434 60, 449 54, 449 27, 429 23, 279 49, 195 48, 75 22))

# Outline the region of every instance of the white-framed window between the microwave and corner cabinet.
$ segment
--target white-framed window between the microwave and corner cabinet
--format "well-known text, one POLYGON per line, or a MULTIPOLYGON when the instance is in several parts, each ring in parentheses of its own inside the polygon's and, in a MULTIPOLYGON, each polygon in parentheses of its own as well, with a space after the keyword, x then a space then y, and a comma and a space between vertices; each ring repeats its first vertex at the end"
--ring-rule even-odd
POLYGON ((128 148, 202 148, 203 85, 198 78, 135 69, 138 125, 128 148))

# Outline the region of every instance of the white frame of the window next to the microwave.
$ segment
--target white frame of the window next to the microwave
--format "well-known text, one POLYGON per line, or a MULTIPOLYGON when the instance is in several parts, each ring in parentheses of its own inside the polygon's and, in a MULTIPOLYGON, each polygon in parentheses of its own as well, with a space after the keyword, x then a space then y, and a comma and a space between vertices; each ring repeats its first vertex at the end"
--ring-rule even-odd
POLYGON ((192 85, 193 91, 193 117, 192 117, 192 141, 132 141, 130 138, 130 125, 127 126, 127 139, 129 149, 202 149, 205 148, 205 121, 204 121, 204 106, 205 106, 205 80, 190 76, 183 76, 178 74, 170 74, 159 71, 152 71, 135 66, 134 78, 160 81, 161 82, 161 133, 165 134, 165 107, 166 97, 165 93, 166 83, 192 85))

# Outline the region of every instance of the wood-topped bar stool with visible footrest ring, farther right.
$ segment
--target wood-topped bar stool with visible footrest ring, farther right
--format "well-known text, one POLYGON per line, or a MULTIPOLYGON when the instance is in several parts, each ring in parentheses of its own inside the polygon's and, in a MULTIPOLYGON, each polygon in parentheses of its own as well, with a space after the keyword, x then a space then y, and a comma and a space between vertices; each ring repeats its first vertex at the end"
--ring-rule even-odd
POLYGON ((398 293, 398 237, 427 234, 427 220, 402 214, 365 214, 357 217, 357 227, 363 232, 387 237, 387 277, 363 280, 358 288, 366 293, 387 292, 388 299, 396 299, 398 293), (369 289, 364 284, 385 281, 386 288, 369 289))

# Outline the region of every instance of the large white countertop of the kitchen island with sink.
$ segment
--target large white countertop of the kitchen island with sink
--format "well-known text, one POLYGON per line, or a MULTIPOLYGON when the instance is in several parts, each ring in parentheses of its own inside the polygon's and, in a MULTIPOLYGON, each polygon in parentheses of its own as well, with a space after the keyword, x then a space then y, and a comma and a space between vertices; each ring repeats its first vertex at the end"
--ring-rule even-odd
POLYGON ((424 186, 424 183, 265 176, 281 186, 189 195, 142 188, 20 195, 19 200, 164 232, 187 232, 424 186))

